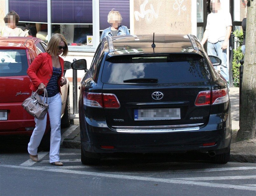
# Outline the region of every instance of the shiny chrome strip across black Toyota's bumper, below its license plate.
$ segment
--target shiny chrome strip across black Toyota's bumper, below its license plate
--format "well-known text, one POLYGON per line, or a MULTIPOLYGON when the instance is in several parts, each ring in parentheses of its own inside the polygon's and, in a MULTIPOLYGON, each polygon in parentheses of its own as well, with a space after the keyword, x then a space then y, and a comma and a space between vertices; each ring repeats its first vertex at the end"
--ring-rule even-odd
POLYGON ((168 132, 182 132, 182 131, 196 131, 199 127, 180 127, 180 128, 159 128, 159 129, 120 129, 116 131, 120 133, 168 133, 168 132))

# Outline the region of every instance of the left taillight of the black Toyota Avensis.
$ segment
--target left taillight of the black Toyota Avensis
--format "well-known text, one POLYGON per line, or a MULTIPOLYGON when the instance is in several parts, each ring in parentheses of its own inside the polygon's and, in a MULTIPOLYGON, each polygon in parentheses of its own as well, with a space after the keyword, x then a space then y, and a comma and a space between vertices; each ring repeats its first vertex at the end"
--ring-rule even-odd
POLYGON ((120 103, 114 94, 84 92, 84 105, 97 108, 120 108, 120 103))

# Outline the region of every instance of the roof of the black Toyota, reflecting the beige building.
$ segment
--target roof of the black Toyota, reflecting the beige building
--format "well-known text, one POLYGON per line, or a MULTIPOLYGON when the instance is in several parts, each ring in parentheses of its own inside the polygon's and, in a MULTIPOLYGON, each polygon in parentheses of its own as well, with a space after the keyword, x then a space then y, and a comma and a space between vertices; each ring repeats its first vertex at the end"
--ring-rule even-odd
MULTIPOLYGON (((199 42, 191 34, 150 34, 129 36, 107 36, 103 39, 108 56, 139 53, 198 53, 199 42), (152 47, 154 40, 155 47, 152 47)), ((201 53, 201 52, 200 52, 201 53)))

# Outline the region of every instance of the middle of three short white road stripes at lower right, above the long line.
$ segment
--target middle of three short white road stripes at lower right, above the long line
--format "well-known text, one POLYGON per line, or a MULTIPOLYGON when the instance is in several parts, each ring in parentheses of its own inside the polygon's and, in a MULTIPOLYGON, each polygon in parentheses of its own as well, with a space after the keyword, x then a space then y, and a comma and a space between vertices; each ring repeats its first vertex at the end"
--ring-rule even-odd
POLYGON ((193 180, 193 181, 201 181, 201 180, 238 180, 238 179, 256 179, 256 176, 216 176, 216 177, 195 177, 195 178, 170 178, 176 180, 193 180))

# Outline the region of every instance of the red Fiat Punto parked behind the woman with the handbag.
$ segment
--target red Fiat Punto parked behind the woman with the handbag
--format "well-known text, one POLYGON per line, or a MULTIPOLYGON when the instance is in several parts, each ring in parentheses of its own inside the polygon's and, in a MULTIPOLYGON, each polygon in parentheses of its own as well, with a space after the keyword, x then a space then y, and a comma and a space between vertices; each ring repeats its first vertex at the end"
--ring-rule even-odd
MULTIPOLYGON (((46 44, 36 37, 0 37, 0 135, 32 134, 34 117, 21 106, 32 91, 27 69, 46 44)), ((67 69, 67 68, 65 68, 67 69)), ((69 82, 61 88, 62 127, 70 125, 69 82)), ((49 119, 49 118, 48 118, 49 119)), ((45 133, 50 130, 47 121, 45 133)))

